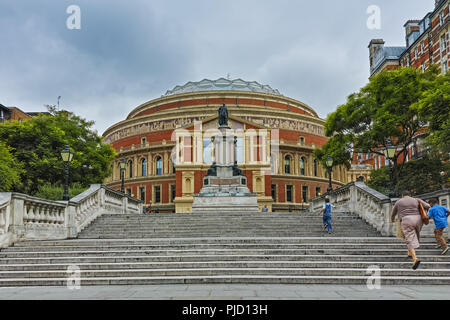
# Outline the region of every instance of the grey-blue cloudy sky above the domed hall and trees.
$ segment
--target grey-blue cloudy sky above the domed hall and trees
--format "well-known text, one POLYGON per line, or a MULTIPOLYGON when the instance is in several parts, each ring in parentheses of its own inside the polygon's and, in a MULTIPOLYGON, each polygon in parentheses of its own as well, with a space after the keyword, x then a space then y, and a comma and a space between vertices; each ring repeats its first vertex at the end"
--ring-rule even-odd
MULTIPOLYGON (((241 78, 321 117, 368 81, 367 45, 404 46, 434 0, 0 0, 0 103, 60 104, 102 134, 176 85, 241 78), (67 28, 70 5, 81 29, 67 28), (381 29, 367 8, 381 9, 381 29)), ((72 20, 71 20, 72 21, 72 20)))

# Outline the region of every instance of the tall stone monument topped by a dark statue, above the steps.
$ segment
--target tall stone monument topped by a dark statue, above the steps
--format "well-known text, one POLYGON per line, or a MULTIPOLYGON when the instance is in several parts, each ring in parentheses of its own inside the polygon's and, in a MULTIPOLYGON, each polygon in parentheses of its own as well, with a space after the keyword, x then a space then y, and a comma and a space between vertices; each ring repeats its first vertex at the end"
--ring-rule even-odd
POLYGON ((211 138, 212 165, 203 179, 200 193, 194 194, 192 212, 257 212, 257 195, 250 192, 247 178, 237 165, 237 137, 228 125, 227 107, 222 105, 218 113, 218 132, 211 138))

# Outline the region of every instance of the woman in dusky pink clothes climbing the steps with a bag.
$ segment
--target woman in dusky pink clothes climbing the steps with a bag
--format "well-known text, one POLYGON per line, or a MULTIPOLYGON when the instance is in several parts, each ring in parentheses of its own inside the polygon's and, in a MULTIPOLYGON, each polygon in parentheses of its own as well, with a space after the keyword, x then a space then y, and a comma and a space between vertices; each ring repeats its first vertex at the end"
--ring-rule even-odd
POLYGON ((419 202, 425 210, 430 208, 430 205, 420 199, 411 197, 409 191, 402 192, 402 199, 395 203, 392 209, 392 222, 395 221, 395 216, 398 215, 403 234, 405 235, 406 245, 408 246, 408 256, 413 259, 413 269, 419 267, 420 260, 416 256, 415 249, 419 248, 420 231, 422 230, 422 217, 419 212, 419 202))

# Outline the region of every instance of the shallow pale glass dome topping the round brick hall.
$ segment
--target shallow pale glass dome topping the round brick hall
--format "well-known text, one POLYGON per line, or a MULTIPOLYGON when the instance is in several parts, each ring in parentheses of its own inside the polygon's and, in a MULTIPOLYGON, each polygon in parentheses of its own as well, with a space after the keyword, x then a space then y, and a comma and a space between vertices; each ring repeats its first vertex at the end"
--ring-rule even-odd
POLYGON ((203 79, 199 82, 189 81, 183 86, 176 86, 172 90, 167 90, 164 96, 170 96, 179 93, 197 92, 197 91, 213 91, 213 90, 231 90, 231 91, 251 91, 274 94, 281 96, 282 94, 272 89, 268 85, 259 84, 256 81, 244 81, 242 79, 228 80, 219 78, 217 80, 203 79))

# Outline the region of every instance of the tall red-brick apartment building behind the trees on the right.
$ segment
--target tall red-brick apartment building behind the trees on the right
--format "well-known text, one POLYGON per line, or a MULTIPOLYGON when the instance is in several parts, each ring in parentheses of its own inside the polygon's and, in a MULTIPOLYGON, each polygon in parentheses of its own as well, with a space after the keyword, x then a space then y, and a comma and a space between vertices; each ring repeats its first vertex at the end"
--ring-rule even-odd
MULTIPOLYGON (((383 39, 373 39, 369 43, 370 76, 400 67, 413 67, 425 71, 431 64, 440 66, 441 72, 450 68, 450 0, 435 0, 434 9, 420 20, 408 20, 404 24, 404 47, 386 47, 383 39)), ((406 161, 420 157, 422 138, 409 146, 406 161)), ((399 161, 403 161, 403 156, 399 161)), ((371 153, 354 153, 353 167, 349 170, 349 180, 356 176, 368 179, 370 169, 388 165, 384 156, 371 153)))

